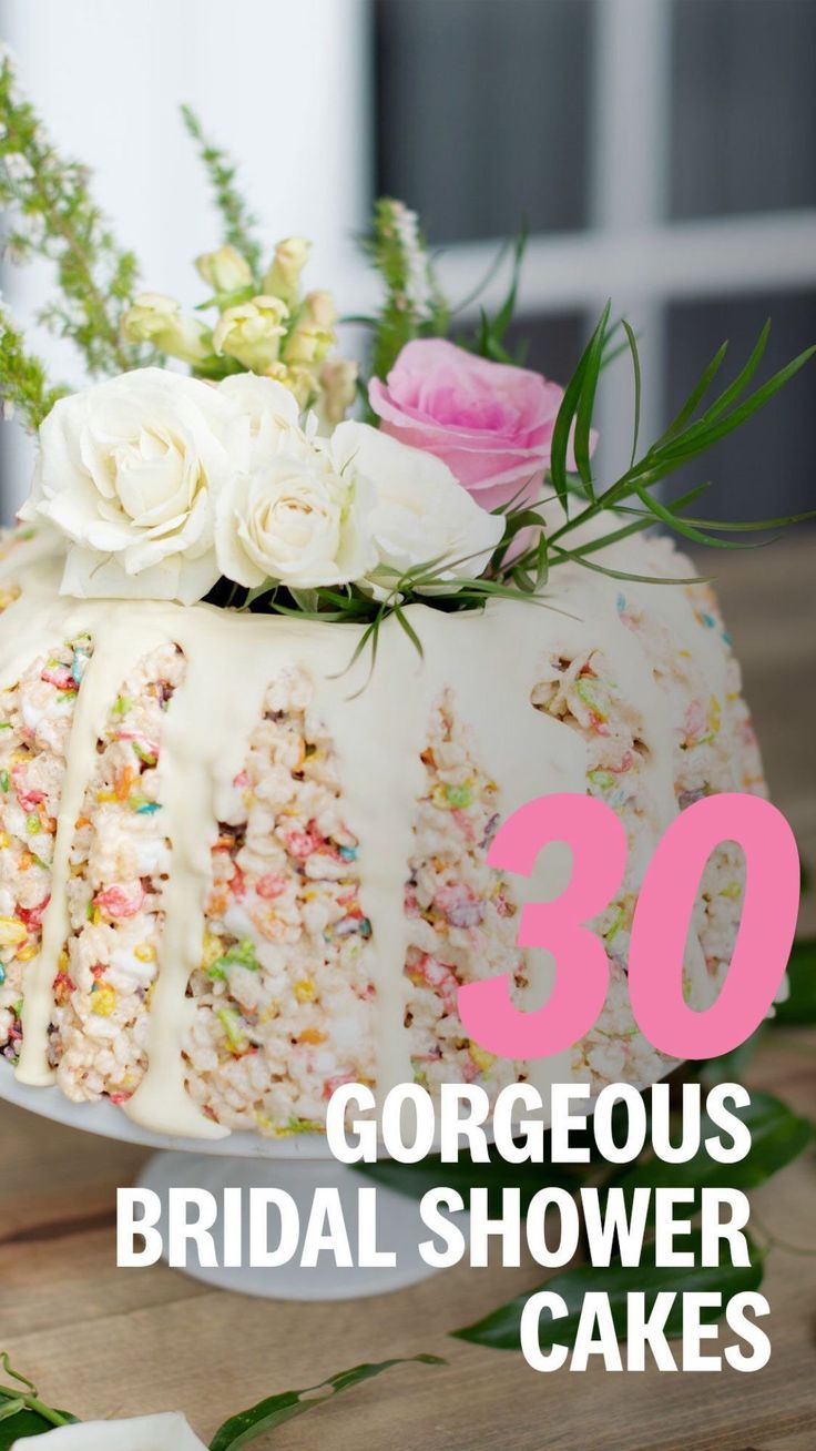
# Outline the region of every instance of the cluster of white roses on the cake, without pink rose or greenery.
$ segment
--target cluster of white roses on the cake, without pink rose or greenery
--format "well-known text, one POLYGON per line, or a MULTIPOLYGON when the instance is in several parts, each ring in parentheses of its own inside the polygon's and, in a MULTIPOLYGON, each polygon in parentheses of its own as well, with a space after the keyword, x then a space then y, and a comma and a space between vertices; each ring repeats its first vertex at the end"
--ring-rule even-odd
POLYGON ((288 389, 246 373, 123 373, 59 399, 39 444, 20 518, 64 535, 62 592, 78 598, 191 605, 220 579, 375 595, 380 570, 430 548, 455 577, 457 557, 487 563, 501 534, 444 463, 365 424, 319 438, 288 389))

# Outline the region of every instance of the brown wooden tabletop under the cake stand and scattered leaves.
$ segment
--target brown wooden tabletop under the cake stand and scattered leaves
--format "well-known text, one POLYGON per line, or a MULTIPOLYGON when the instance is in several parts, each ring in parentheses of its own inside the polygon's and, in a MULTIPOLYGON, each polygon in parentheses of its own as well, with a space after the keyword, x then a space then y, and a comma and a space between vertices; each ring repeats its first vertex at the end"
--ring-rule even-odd
MULTIPOLYGON (((716 556, 774 797, 816 859, 813 537, 716 556)), ((712 567, 710 556, 706 560, 712 567)), ((813 930, 813 908, 806 911, 813 930)), ((754 1081, 816 1113, 816 1033, 770 1035, 754 1081)), ((115 1267, 113 1196, 142 1154, 0 1104, 0 1347, 81 1416, 183 1409, 210 1435, 272 1390, 357 1361, 433 1351, 284 1426, 278 1451, 813 1451, 816 1258, 774 1251, 773 1355, 752 1376, 536 1376, 520 1355, 448 1338, 541 1270, 457 1268, 346 1304, 283 1304, 207 1290, 164 1267, 115 1267)), ((816 1164, 755 1196, 777 1235, 816 1246, 816 1164)))

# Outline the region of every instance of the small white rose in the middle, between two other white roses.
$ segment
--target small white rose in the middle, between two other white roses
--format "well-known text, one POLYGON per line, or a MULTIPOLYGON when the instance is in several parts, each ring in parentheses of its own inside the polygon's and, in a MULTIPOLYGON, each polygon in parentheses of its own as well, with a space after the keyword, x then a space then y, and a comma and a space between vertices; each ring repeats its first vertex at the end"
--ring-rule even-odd
POLYGON ((220 570, 254 589, 267 579, 293 589, 361 579, 374 553, 365 530, 368 489, 339 474, 299 428, 257 437, 252 461, 219 495, 220 570))

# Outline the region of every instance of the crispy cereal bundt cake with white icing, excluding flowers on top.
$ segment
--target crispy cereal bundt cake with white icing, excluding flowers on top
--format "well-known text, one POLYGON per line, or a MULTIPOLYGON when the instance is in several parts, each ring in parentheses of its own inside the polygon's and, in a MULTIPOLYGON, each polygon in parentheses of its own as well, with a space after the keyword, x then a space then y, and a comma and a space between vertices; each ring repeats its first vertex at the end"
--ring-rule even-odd
MULTIPOLYGON (((659 538, 604 557, 690 573, 659 538)), ((322 1132, 351 1080, 494 1094, 667 1071, 626 992, 639 881, 677 811, 764 791, 706 585, 567 564, 542 607, 412 605, 422 660, 390 620, 352 692, 354 625, 78 601, 58 593, 61 569, 48 531, 6 540, 1 1071, 167 1133, 272 1138, 322 1132), (538 955, 515 942, 526 884, 487 850, 549 791, 590 792, 626 827, 628 875, 596 923, 610 990, 570 1055, 507 1062, 468 1040, 457 988, 512 972, 520 1003, 541 1000, 538 955)), ((726 843, 690 939, 699 1007, 728 968, 741 891, 726 843)))

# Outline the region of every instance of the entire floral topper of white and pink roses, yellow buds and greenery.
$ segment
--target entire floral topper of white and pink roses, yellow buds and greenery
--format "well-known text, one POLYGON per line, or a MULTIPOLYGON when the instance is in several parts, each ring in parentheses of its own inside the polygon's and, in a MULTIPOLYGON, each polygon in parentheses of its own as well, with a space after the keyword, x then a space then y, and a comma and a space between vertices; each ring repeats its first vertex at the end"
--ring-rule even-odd
POLYGON ((204 296, 191 313, 138 290, 135 258, 93 205, 84 168, 58 155, 1 58, 7 248, 55 263, 59 300, 42 316, 101 379, 74 395, 51 385, 1 313, 0 392, 41 444, 22 518, 61 535, 64 592, 348 621, 364 625, 364 643, 393 614, 419 644, 404 615, 413 601, 546 604, 551 569, 617 577, 606 546, 654 524, 733 548, 742 530, 794 522, 722 525, 687 512, 704 486, 668 501, 655 486, 768 402, 812 348, 749 392, 765 328, 712 396, 723 345, 639 451, 641 361, 625 319, 604 309, 564 389, 517 366, 504 335, 522 237, 504 305, 454 341, 417 218, 383 199, 365 247, 384 299, 375 316, 352 319, 371 332, 371 371, 358 377, 338 353, 333 299, 304 287, 309 242, 264 251, 235 168, 183 115, 223 223, 220 245, 196 260, 204 296), (593 411, 619 353, 633 373, 632 454, 601 483, 593 411), (355 400, 364 421, 346 418, 355 400))

